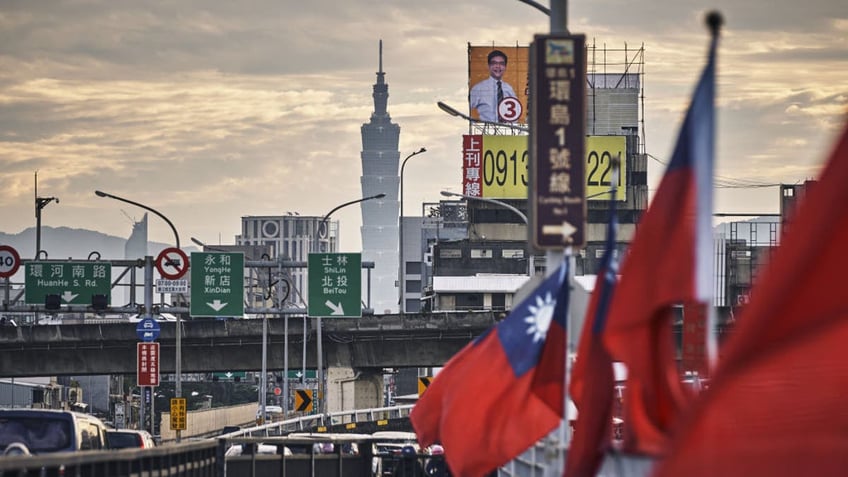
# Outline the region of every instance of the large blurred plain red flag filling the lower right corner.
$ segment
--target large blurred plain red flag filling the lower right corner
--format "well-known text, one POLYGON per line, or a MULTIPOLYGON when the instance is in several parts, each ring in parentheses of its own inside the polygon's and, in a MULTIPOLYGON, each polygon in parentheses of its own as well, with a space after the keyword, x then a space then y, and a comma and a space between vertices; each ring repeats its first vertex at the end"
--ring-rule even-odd
POLYGON ((848 472, 848 128, 796 209, 660 476, 848 472))

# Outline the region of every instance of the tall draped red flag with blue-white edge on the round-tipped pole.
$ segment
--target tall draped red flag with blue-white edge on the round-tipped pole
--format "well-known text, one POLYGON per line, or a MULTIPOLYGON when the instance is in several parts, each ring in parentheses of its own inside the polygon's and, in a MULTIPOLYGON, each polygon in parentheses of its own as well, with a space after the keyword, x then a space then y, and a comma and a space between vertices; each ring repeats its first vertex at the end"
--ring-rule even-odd
POLYGON ((622 263, 603 335, 612 358, 627 365, 624 449, 630 452, 660 454, 686 402, 672 307, 711 304, 717 39, 716 27, 671 162, 622 263))

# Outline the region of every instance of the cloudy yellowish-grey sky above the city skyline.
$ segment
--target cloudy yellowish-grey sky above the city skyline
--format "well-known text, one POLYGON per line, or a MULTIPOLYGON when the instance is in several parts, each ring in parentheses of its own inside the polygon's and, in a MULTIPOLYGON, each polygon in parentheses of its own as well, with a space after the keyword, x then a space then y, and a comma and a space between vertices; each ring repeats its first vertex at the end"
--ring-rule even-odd
MULTIPOLYGON (((572 1, 567 28, 598 46, 644 45, 653 187, 713 9, 725 19, 715 210, 776 213, 774 184, 814 179, 846 120, 844 0, 572 1)), ((380 40, 401 158, 427 148, 404 177, 405 214, 420 215, 461 190, 467 123, 436 102, 466 104, 468 43, 523 46, 550 31, 517 0, 0 0, 0 231, 35 226, 36 171, 38 195, 60 199, 42 226, 129 236, 144 211, 99 189, 161 212, 183 245, 232 244, 242 216, 323 216, 362 197, 380 40)), ((358 251, 359 208, 334 218, 341 251, 358 251)), ((173 241, 154 216, 149 235, 173 241)))

